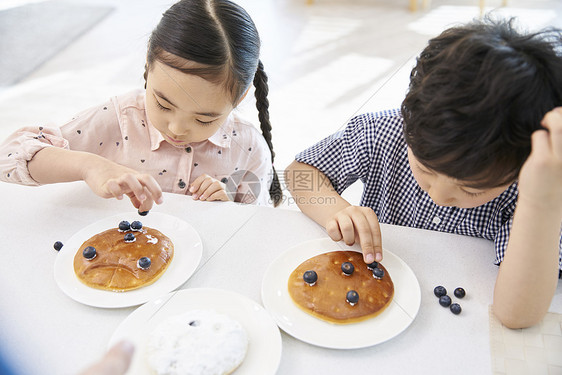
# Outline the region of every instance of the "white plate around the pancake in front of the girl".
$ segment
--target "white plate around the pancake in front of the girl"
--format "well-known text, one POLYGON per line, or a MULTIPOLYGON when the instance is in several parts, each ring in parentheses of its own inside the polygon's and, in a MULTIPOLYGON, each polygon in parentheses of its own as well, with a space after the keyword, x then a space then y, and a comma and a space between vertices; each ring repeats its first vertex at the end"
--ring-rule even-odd
POLYGON ((128 212, 102 219, 72 236, 57 255, 55 281, 66 295, 85 305, 106 308, 135 306, 171 292, 185 283, 199 266, 202 254, 201 238, 185 221, 160 212, 151 212, 143 217, 139 217, 136 212, 128 212), (86 286, 74 273, 74 255, 88 238, 117 227, 122 220, 139 220, 143 225, 161 231, 172 240, 174 256, 168 269, 153 284, 127 292, 111 292, 86 286))

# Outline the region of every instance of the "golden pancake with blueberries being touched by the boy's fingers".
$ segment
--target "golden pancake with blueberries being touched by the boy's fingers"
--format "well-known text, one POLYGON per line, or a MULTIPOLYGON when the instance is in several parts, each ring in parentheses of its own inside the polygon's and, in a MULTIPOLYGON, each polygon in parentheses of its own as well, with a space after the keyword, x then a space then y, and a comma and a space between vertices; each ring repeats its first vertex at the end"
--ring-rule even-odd
POLYGON ((383 312, 394 283, 382 264, 366 264, 356 251, 332 251, 301 263, 289 276, 289 295, 303 311, 322 320, 348 324, 383 312))

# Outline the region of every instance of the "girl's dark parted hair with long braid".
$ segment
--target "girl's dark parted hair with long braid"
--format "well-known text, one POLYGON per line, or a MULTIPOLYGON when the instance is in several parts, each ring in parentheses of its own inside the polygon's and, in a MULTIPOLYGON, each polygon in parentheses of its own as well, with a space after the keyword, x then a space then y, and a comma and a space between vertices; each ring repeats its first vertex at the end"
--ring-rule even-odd
MULTIPOLYGON (((259 52, 258 31, 242 7, 228 0, 181 0, 163 14, 150 36, 145 87, 155 60, 181 72, 223 84, 231 93, 233 103, 240 101, 253 82, 260 127, 273 162, 269 89, 259 52), (193 66, 193 62, 197 65, 193 66)), ((269 194, 277 206, 283 194, 275 168, 272 177, 269 194)))

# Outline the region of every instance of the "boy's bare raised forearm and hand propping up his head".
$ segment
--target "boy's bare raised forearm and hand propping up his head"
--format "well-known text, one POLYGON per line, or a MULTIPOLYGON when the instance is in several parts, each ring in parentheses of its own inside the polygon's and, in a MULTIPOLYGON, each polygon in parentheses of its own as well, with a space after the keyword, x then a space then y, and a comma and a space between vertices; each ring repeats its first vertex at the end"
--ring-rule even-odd
POLYGON ((558 283, 562 108, 549 112, 542 125, 548 132, 533 134, 531 155, 519 175, 517 208, 494 289, 494 313, 510 328, 538 323, 558 283))

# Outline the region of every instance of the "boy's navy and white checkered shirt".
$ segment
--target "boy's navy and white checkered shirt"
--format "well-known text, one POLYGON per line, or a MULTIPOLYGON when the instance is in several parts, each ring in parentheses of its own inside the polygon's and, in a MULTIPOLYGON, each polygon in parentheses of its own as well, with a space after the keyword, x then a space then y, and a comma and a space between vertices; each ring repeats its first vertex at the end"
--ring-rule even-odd
MULTIPOLYGON (((371 207, 381 223, 494 241, 499 265, 513 221, 517 182, 479 207, 436 205, 412 175, 402 123, 398 110, 359 115, 344 130, 297 154, 296 160, 323 172, 339 194, 361 180, 360 204, 371 207)), ((562 270, 562 250, 559 263, 562 270)))

